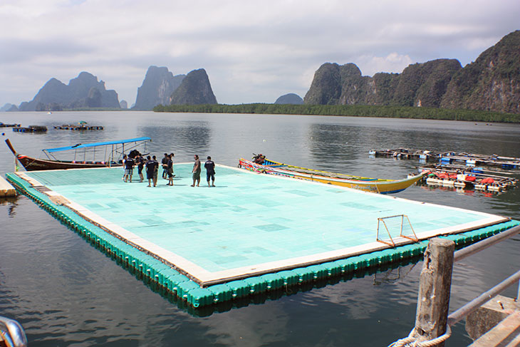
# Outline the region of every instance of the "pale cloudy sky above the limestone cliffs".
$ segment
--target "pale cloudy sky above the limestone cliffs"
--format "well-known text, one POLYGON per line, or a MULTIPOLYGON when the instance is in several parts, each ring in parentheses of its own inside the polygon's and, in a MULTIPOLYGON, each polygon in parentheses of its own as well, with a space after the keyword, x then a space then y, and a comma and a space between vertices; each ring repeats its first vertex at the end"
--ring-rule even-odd
POLYGON ((0 0, 0 106, 81 71, 131 105, 152 65, 204 68, 219 103, 274 103, 322 63, 464 66, 517 29, 519 0, 0 0))

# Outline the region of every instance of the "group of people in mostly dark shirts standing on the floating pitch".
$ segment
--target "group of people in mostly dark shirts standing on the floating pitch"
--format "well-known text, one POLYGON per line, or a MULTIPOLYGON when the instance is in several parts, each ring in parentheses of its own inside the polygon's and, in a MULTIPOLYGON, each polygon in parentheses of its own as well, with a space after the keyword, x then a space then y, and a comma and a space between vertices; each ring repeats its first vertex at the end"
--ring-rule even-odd
MULTIPOLYGON (((167 185, 173 185, 173 157, 175 155, 173 153, 167 154, 165 153, 165 157, 161 160, 162 165, 162 178, 168 180, 167 185)), ((191 187, 195 187, 197 183, 197 187, 200 184, 200 172, 202 171, 201 162, 199 160, 198 155, 194 155, 194 164, 192 169, 192 178, 193 184, 191 187)), ((157 187, 157 172, 159 171, 159 162, 157 162, 157 157, 153 155, 150 157, 148 155, 146 160, 140 153, 137 153, 135 159, 130 157, 130 155, 123 155, 123 168, 125 169, 125 173, 123 175, 124 182, 132 182, 132 173, 134 166, 137 165, 137 173, 140 177, 139 182, 143 182, 144 178, 142 175, 142 170, 146 167, 146 178, 148 180, 148 187, 152 187, 152 183, 154 187, 157 187)), ((204 168, 206 169, 207 176, 207 185, 208 187, 215 186, 215 163, 212 161, 212 157, 207 157, 207 161, 204 163, 204 168), (211 180, 211 185, 209 181, 211 180)))

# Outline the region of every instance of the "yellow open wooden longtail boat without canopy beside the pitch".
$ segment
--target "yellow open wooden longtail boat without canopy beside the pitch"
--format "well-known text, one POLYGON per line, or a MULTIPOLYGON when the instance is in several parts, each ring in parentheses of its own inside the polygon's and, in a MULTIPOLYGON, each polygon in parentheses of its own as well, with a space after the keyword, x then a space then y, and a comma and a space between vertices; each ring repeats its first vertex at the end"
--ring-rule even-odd
POLYGON ((239 167, 269 175, 292 177, 300 180, 326 183, 328 185, 339 185, 341 187, 354 188, 357 190, 365 190, 367 192, 380 194, 401 192, 407 187, 410 187, 410 185, 421 180, 422 177, 428 173, 422 172, 415 177, 406 178, 405 180, 385 180, 380 178, 343 175, 327 171, 306 169, 305 167, 286 165, 281 162, 267 159, 264 159, 259 163, 258 160, 255 160, 254 162, 245 160, 244 158, 240 158, 239 167))

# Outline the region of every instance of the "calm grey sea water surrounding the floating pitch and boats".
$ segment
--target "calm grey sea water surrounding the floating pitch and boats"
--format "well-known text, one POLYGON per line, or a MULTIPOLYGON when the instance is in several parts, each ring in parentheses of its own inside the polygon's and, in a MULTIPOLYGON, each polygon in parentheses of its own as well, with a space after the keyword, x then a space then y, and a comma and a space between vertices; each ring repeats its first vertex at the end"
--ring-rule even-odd
MULTIPOLYGON (((46 134, 0 129, 1 138, 9 138, 18 152, 36 157, 42 148, 149 136, 153 142, 146 152, 158 157, 175 152, 177 162, 199 154, 235 166, 239 157, 261 152, 303 167, 402 178, 419 163, 370 158, 368 151, 412 147, 520 156, 519 125, 152 112, 0 113, 0 121, 47 125, 46 134), (52 128, 80 120, 105 130, 52 128)), ((13 170, 14 157, 0 144, 0 173, 13 170)), ((414 186, 396 196, 520 219, 519 189, 487 196, 414 186)), ((0 200, 0 230, 0 315, 24 326, 29 346, 388 346, 407 336, 415 322, 422 263, 292 289, 279 299, 259 296, 214 312, 189 311, 26 197, 0 200)), ((451 311, 517 271, 519 264, 520 237, 457 264, 451 311)), ((516 296, 516 290, 504 294, 516 296)), ((446 346, 470 342, 462 322, 446 346)))

